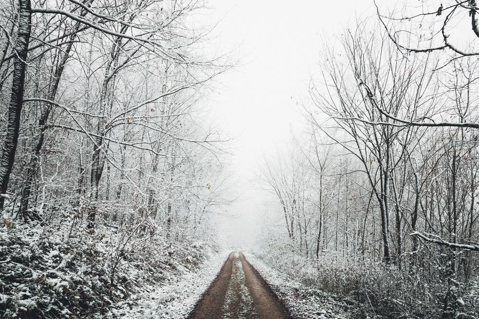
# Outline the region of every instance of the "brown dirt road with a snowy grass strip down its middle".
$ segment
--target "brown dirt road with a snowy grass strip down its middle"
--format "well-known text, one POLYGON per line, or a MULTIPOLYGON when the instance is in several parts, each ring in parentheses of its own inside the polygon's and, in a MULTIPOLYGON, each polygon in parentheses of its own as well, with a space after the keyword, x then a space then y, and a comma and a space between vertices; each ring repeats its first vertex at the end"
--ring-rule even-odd
POLYGON ((286 319, 288 310, 240 251, 229 254, 189 319, 286 319))

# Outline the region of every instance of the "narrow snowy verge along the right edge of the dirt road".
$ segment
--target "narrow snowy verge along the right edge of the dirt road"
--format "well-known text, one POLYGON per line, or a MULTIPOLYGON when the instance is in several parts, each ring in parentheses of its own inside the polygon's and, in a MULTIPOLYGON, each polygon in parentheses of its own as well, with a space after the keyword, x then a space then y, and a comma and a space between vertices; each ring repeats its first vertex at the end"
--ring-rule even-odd
POLYGON ((281 302, 297 319, 352 318, 344 310, 345 305, 337 302, 320 290, 302 285, 293 278, 267 266, 251 253, 244 253, 246 260, 258 270, 281 302))

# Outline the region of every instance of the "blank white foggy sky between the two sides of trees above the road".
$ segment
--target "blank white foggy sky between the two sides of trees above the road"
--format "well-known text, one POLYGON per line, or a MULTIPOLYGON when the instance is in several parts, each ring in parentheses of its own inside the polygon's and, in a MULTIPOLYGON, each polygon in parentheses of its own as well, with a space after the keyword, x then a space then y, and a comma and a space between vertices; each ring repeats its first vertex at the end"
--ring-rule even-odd
POLYGON ((213 21, 220 21, 213 40, 220 51, 237 47, 241 66, 219 79, 208 97, 217 124, 235 136, 232 163, 234 192, 241 201, 221 218, 226 243, 251 246, 262 213, 277 209, 272 197, 257 189, 255 173, 263 154, 284 149, 290 131, 299 132, 297 99, 308 94, 317 73, 322 39, 334 39, 356 16, 373 15, 372 0, 349 2, 299 0, 210 0, 213 21))

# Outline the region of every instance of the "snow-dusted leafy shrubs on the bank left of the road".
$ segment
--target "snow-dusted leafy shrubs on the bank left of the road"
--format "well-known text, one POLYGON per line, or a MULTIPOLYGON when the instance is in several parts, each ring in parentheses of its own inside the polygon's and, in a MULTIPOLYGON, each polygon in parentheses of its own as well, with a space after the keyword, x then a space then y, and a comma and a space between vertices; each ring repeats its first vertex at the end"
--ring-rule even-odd
POLYGON ((130 294, 195 267, 209 249, 148 225, 98 225, 91 233, 8 220, 0 225, 2 318, 102 317, 130 294))

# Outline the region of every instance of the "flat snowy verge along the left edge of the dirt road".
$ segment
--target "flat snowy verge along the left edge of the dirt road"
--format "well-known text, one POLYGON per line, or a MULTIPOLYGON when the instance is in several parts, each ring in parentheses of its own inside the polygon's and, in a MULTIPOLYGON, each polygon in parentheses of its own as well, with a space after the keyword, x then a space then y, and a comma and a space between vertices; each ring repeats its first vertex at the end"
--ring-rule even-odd
POLYGON ((201 295, 216 278, 231 251, 210 255, 200 269, 185 269, 180 277, 171 278, 161 287, 148 287, 150 293, 142 293, 120 303, 109 313, 111 318, 122 319, 180 319, 193 310, 201 295))

